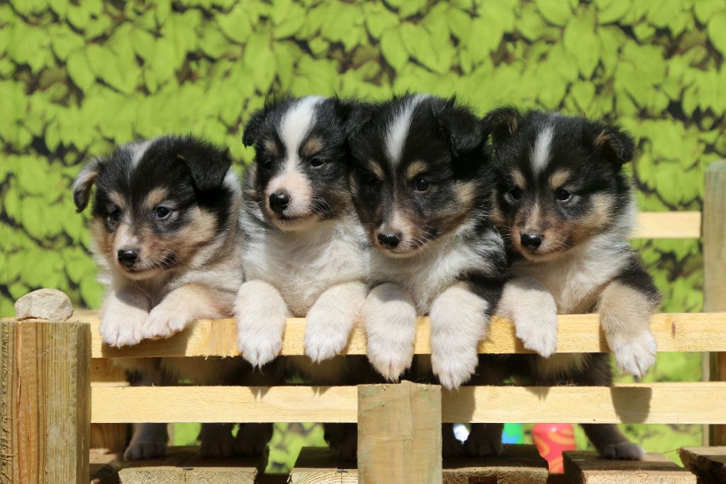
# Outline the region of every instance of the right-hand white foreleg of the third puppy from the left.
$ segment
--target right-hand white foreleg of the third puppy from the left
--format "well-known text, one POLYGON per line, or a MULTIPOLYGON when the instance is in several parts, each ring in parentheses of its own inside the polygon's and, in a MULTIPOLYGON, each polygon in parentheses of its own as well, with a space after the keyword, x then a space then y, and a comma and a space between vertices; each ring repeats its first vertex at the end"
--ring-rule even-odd
POLYGON ((441 385, 460 387, 476 369, 476 347, 486 336, 489 303, 457 284, 431 304, 431 368, 441 385))

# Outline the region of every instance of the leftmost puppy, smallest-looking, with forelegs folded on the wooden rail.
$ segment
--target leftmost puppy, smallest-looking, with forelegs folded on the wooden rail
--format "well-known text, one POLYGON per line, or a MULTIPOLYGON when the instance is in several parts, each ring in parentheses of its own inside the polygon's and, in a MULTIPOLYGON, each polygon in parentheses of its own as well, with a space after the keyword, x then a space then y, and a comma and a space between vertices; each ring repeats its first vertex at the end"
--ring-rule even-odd
MULTIPOLYGON (((168 338, 199 318, 228 318, 242 283, 242 193, 227 151, 193 137, 133 142, 91 161, 73 184, 78 211, 95 184, 91 233, 103 302, 101 338, 115 347, 168 338)), ((241 360, 142 358, 115 363, 134 385, 230 384, 241 360)), ((248 371, 251 371, 251 367, 248 371)), ((254 434, 257 427, 251 427, 254 434)), ((240 432, 248 434, 249 432, 240 432)), ((264 448, 269 436, 257 447, 264 448)), ((232 453, 229 424, 204 424, 201 452, 232 453)), ((166 453, 166 424, 135 424, 126 459, 166 453)))

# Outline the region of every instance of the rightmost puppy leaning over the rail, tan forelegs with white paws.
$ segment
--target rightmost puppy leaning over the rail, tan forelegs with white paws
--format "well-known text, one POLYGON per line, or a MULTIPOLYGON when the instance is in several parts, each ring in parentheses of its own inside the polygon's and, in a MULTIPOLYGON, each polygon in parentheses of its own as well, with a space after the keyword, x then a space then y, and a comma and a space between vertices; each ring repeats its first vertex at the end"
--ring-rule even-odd
MULTIPOLYGON (((511 356, 507 366, 528 384, 609 386, 609 355, 553 354, 558 312, 597 312, 617 366, 643 376, 655 361, 648 320, 660 295, 627 240, 632 138, 600 121, 514 108, 494 110, 484 125, 497 175, 492 219, 511 257, 499 312, 540 355, 511 356)), ((602 456, 643 456, 615 425, 583 428, 602 456)))

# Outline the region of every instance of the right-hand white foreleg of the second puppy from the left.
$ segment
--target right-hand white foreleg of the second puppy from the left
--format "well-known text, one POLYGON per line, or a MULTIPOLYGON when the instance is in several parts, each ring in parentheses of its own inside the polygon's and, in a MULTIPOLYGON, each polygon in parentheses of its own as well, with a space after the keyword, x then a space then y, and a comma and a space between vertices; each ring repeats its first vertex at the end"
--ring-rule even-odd
POLYGON ((319 363, 338 355, 348 344, 366 297, 362 282, 338 284, 320 294, 307 315, 305 354, 319 363))

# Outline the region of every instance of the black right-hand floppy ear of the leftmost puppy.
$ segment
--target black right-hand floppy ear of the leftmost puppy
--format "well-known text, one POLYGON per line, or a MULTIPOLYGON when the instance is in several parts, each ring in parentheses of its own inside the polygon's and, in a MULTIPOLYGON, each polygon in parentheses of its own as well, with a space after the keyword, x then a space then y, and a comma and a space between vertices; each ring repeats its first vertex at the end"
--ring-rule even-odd
POLYGON ((200 190, 219 187, 232 164, 229 150, 220 150, 210 143, 195 140, 183 143, 176 151, 176 158, 187 165, 194 184, 200 190))

